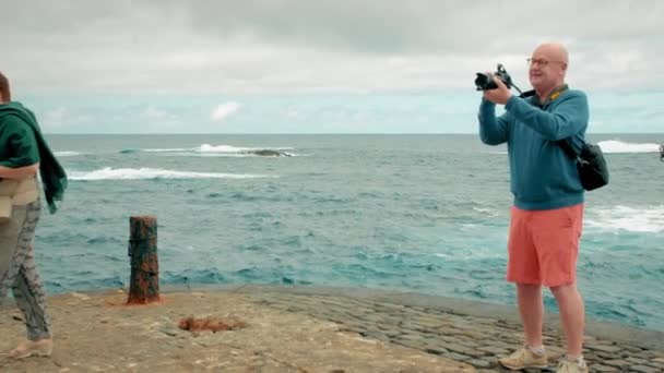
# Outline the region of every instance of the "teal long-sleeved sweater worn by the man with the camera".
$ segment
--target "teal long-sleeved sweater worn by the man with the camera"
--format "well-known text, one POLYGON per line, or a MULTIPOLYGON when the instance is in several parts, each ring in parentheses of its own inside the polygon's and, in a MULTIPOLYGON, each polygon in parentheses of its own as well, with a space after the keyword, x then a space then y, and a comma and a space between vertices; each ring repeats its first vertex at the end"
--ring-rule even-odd
POLYGON ((574 161, 556 143, 570 137, 579 151, 585 141, 589 109, 585 94, 564 91, 538 107, 537 96, 512 96, 506 112, 496 117, 496 104, 482 99, 479 139, 488 145, 507 142, 511 191, 522 209, 552 209, 584 201, 574 161))

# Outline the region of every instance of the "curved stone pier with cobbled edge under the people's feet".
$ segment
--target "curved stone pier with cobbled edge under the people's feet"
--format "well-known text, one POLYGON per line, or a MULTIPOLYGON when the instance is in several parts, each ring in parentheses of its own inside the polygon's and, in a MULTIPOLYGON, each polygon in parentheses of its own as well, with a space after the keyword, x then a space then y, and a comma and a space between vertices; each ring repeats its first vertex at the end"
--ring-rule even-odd
MULTIPOLYGON (((238 286, 126 300, 122 289, 50 297, 52 357, 0 354, 0 372, 503 372, 498 357, 523 344, 513 306, 415 293, 238 286), (192 332, 180 327, 187 317, 239 326, 192 332)), ((0 352, 24 336, 11 301, 0 329, 0 352)), ((555 371, 555 315, 545 344, 543 371, 555 371)), ((584 347, 591 372, 664 371, 661 332, 589 322, 584 347)))

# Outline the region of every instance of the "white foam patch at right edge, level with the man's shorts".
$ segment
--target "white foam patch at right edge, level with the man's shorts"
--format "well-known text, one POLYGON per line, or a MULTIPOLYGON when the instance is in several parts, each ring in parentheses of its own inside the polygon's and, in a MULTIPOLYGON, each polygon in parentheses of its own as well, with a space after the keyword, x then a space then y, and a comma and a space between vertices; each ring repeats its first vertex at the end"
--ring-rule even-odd
POLYGON ((585 227, 607 232, 664 232, 664 205, 652 207, 614 206, 589 209, 585 227))

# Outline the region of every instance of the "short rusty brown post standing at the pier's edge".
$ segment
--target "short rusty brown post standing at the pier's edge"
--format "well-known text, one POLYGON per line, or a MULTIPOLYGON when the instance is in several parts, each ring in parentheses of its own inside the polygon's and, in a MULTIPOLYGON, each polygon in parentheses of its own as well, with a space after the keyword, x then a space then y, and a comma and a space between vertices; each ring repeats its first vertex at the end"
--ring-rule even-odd
POLYGON ((129 229, 131 278, 127 304, 156 302, 159 300, 157 219, 154 216, 132 216, 129 218, 129 229))

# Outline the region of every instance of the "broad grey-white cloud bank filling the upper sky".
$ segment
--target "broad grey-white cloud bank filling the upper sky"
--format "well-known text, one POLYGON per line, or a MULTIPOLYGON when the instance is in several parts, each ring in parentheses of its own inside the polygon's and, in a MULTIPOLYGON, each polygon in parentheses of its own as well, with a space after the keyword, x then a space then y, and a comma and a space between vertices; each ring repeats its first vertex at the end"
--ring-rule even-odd
POLYGON ((25 0, 0 13, 1 69, 56 95, 472 89, 497 62, 525 82, 534 46, 562 40, 576 85, 661 87, 662 17, 659 0, 25 0))

